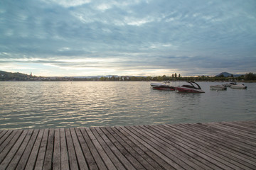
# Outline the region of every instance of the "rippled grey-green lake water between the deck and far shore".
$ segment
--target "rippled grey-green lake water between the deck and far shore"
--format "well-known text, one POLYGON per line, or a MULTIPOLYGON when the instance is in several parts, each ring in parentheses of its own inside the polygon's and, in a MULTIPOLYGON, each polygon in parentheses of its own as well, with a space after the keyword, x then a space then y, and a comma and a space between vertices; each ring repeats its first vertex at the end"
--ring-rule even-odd
MULTIPOLYGON (((186 84, 174 81, 174 86, 186 84)), ((247 90, 181 94, 149 81, 0 81, 0 129, 70 128, 256 120, 256 84, 247 90)))

